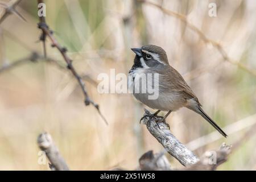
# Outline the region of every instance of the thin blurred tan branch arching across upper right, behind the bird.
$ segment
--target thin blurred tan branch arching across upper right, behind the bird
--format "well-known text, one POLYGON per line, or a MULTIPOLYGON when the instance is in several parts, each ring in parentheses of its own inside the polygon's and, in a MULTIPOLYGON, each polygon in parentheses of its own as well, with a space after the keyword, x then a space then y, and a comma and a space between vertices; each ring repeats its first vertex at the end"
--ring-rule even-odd
POLYGON ((180 19, 189 28, 191 28, 191 30, 195 31, 200 36, 200 38, 204 40, 204 42, 206 44, 211 44, 213 47, 215 47, 217 49, 217 51, 221 54, 221 56, 224 59, 224 61, 228 61, 231 64, 237 65, 237 67, 243 69, 244 71, 250 73, 253 76, 256 76, 256 70, 247 67, 247 65, 244 65, 244 64, 240 63, 239 61, 232 60, 228 56, 228 54, 226 53, 226 51, 224 50, 224 48, 221 46, 220 43, 218 43, 218 42, 216 42, 216 41, 214 41, 212 39, 207 38, 207 36, 204 35, 204 33, 201 32, 201 30, 199 30, 199 28, 194 26, 192 23, 188 22, 187 17, 185 15, 182 15, 182 14, 176 13, 174 11, 165 9, 161 5, 158 5, 158 4, 154 3, 154 2, 149 2, 149 1, 145 1, 145 0, 137 0, 137 1, 145 3, 145 4, 148 4, 148 5, 152 5, 152 6, 158 7, 164 14, 167 14, 167 15, 173 16, 173 17, 175 17, 177 19, 180 19))

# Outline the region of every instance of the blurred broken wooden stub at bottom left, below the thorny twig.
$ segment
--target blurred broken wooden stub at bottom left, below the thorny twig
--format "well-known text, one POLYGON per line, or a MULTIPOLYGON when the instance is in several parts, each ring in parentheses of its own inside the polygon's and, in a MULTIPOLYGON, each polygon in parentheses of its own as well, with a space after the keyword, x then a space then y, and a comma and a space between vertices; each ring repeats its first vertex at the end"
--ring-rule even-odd
POLYGON ((48 133, 42 133, 38 136, 38 146, 39 148, 46 152, 47 158, 49 159, 49 168, 52 171, 68 171, 69 168, 60 155, 58 148, 53 143, 51 135, 48 133))

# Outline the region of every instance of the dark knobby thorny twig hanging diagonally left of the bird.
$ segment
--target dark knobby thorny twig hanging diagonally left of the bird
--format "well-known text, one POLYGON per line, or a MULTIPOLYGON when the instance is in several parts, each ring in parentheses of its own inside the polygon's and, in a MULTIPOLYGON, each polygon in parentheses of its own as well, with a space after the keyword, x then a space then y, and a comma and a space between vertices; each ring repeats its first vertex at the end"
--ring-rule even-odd
MULTIPOLYGON (((43 0, 38 0, 38 4, 43 2, 44 2, 43 0)), ((76 69, 73 67, 72 60, 67 55, 67 48, 60 46, 60 44, 57 42, 55 36, 53 36, 53 31, 51 31, 48 25, 46 24, 46 19, 42 16, 42 17, 39 17, 39 20, 40 22, 38 23, 38 28, 42 30, 42 35, 40 36, 40 40, 42 40, 42 42, 44 43, 44 46, 45 46, 46 37, 48 37, 51 40, 52 47, 56 47, 59 50, 65 62, 67 63, 67 68, 72 72, 73 76, 75 76, 77 81, 79 82, 79 85, 81 86, 81 89, 82 89, 82 93, 84 94, 84 97, 85 97, 85 101, 84 101, 85 105, 87 106, 92 104, 97 109, 102 119, 104 119, 106 125, 108 125, 108 122, 106 121, 105 117, 101 114, 98 104, 96 104, 88 96, 84 81, 82 81, 81 76, 76 72, 76 69)))

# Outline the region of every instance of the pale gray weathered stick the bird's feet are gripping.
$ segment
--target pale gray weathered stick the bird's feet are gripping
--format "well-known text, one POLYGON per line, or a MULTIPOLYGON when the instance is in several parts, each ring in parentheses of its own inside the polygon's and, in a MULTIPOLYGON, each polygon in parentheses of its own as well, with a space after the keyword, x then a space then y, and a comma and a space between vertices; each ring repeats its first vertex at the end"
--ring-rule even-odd
MULTIPOLYGON (((150 112, 145 109, 144 115, 149 115, 150 112)), ((174 156, 183 166, 191 166, 199 162, 199 158, 188 150, 184 144, 180 143, 171 131, 168 130, 168 126, 163 122, 158 122, 159 117, 145 117, 143 123, 147 126, 148 131, 155 137, 159 143, 166 149, 166 151, 174 156)))

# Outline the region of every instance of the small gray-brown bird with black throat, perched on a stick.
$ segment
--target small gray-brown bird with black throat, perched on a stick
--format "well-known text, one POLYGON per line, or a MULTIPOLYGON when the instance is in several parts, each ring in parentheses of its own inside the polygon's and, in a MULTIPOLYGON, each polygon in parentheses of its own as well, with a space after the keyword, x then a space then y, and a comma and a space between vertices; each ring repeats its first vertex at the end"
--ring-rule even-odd
POLYGON ((180 73, 168 63, 166 51, 164 51, 163 48, 147 45, 142 48, 131 48, 131 50, 136 55, 133 67, 129 71, 129 89, 138 89, 134 87, 136 87, 140 81, 138 78, 140 74, 143 73, 144 75, 147 75, 148 73, 151 73, 151 75, 154 75, 155 73, 158 73, 158 81, 155 81, 154 83, 159 89, 158 98, 150 100, 148 99, 148 92, 133 92, 133 95, 137 100, 152 109, 158 110, 150 115, 150 117, 157 116, 160 111, 168 111, 162 118, 162 122, 165 122, 165 119, 172 111, 176 111, 180 109, 180 107, 187 107, 197 114, 200 114, 221 135, 228 137, 216 122, 204 112, 196 94, 188 86, 180 73))

